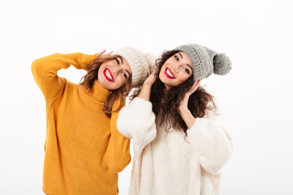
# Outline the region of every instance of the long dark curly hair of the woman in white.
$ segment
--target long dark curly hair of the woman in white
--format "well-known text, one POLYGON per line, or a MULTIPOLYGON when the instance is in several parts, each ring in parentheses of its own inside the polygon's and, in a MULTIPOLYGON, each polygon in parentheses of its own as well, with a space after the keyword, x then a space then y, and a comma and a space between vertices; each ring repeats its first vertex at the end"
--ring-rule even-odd
MULTIPOLYGON (((183 100, 186 92, 192 87, 194 80, 193 74, 185 82, 179 84, 177 87, 172 87, 169 90, 166 90, 164 83, 159 79, 160 70, 166 60, 176 53, 179 50, 164 51, 161 54, 161 58, 156 60, 155 75, 157 77, 156 81, 151 87, 151 96, 150 102, 152 103, 152 110, 155 113, 156 117, 159 115, 160 126, 166 122, 166 132, 170 132, 170 128, 173 127, 175 130, 183 130, 185 136, 187 135, 186 131, 188 129, 186 123, 179 114, 178 107, 180 101, 183 100)), ((133 94, 130 96, 130 99, 137 97, 141 91, 139 87, 133 94)), ((205 91, 205 89, 199 86, 196 91, 190 95, 188 99, 188 109, 192 115, 197 118, 202 118, 207 113, 207 109, 214 110, 214 114, 217 114, 217 106, 213 100, 214 96, 205 91), (208 105, 208 102, 212 101, 213 107, 208 105)))

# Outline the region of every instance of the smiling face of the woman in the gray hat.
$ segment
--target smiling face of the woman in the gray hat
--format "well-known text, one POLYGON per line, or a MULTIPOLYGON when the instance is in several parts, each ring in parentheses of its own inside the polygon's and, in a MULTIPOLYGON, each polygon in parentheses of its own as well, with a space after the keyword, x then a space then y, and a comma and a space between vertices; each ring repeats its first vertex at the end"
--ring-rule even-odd
POLYGON ((192 75, 193 68, 190 58, 180 51, 166 60, 161 67, 159 78, 169 90, 185 82, 192 75))

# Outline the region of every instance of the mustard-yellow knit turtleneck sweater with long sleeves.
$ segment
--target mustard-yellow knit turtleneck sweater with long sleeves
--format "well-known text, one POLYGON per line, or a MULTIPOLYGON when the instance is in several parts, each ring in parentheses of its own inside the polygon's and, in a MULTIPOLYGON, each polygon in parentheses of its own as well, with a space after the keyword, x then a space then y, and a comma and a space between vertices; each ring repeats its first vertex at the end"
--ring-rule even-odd
MULTIPOLYGON (((95 81, 93 91, 86 92, 57 75, 71 64, 86 69, 96 57, 53 54, 32 63, 33 77, 46 101, 46 194, 118 194, 117 173, 131 161, 130 140, 116 127, 118 112, 108 118, 102 111, 109 90, 95 81)), ((116 101, 112 109, 119 103, 116 101)))

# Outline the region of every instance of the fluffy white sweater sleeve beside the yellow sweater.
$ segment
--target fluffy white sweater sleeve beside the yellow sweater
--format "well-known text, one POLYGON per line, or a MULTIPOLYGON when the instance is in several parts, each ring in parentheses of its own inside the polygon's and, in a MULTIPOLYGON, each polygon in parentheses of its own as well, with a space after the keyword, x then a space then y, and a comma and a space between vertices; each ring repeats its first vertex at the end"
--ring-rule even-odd
POLYGON ((144 147, 155 139, 155 118, 151 102, 138 97, 121 109, 117 128, 122 135, 133 139, 134 156, 140 156, 144 147))

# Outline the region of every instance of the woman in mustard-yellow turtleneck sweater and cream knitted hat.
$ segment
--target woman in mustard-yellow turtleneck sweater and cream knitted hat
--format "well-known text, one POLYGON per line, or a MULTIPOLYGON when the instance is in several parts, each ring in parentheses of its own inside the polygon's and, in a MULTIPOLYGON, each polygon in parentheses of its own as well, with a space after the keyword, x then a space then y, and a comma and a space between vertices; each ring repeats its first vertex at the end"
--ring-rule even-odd
POLYGON ((118 172, 131 161, 130 140, 116 120, 131 87, 144 82, 156 56, 130 47, 102 55, 53 54, 31 70, 46 101, 43 170, 46 194, 118 194, 118 172), (74 84, 57 75, 73 65, 87 71, 74 84))

